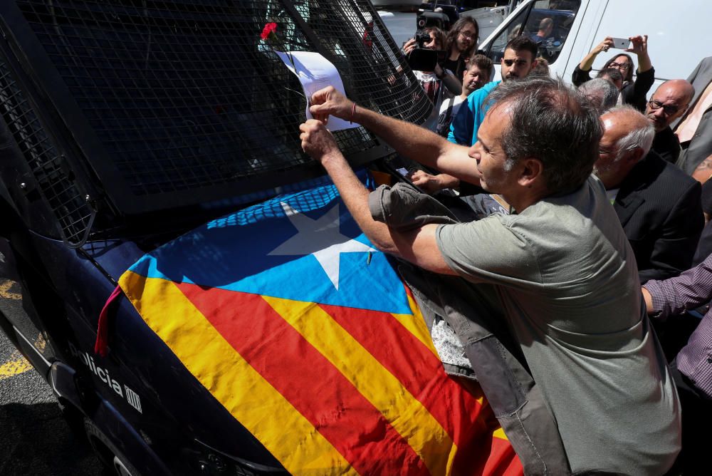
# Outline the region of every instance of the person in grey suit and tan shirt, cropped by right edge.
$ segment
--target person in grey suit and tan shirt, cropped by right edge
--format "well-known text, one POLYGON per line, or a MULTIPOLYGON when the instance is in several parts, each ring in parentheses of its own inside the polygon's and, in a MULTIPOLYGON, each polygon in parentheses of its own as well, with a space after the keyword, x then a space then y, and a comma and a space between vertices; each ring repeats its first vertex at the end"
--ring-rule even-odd
POLYGON ((712 154, 712 56, 700 61, 687 81, 695 87, 695 95, 687 113, 674 126, 682 146, 677 165, 692 175, 712 154))

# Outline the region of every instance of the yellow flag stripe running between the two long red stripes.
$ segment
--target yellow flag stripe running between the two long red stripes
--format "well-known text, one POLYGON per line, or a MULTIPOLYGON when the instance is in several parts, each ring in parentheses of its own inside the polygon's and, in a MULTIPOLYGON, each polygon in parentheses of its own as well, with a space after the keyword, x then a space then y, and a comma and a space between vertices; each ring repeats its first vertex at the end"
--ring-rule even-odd
POLYGON ((263 299, 384 415, 432 475, 449 474, 457 449, 450 436, 350 333, 317 304, 268 296, 263 299))

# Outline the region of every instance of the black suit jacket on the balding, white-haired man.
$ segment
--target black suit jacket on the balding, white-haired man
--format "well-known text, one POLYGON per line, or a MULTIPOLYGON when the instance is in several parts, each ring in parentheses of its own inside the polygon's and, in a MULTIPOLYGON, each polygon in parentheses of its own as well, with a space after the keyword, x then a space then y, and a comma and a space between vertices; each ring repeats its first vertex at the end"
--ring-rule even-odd
POLYGON ((633 248, 640 282, 677 276, 692 263, 704 226, 702 187, 649 152, 623 180, 614 209, 633 248))

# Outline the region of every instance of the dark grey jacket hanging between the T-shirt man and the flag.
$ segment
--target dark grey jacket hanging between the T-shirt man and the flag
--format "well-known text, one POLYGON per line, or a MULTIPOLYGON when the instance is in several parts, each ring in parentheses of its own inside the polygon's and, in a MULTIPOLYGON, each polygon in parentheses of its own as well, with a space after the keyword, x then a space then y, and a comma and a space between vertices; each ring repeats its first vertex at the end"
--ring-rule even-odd
MULTIPOLYGON (((371 192, 369 207, 375 220, 401 231, 456 222, 454 214, 433 197, 402 183, 371 192)), ((505 324, 496 286, 431 273, 407 262, 399 272, 428 327, 435 319, 444 319, 455 331, 473 374, 447 366, 446 371, 476 379, 525 474, 570 474, 556 422, 505 324)))

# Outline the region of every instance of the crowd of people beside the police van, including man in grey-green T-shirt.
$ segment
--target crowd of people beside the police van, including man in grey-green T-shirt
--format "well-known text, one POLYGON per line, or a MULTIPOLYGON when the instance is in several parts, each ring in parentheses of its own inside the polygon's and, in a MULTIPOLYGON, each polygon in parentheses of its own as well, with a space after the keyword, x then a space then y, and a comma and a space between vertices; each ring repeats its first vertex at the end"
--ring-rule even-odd
MULTIPOLYGON (((712 420, 712 57, 649 94, 645 35, 591 77, 607 37, 571 86, 548 76, 537 38, 521 35, 490 81, 475 21, 427 31, 427 47, 446 51, 435 71, 416 73, 434 103, 430 131, 325 88, 310 98, 303 149, 375 247, 424 270, 433 289, 453 276, 468 286, 455 299, 470 301, 467 312, 432 293, 435 322, 501 410, 527 472, 696 474, 712 420), (330 115, 419 162, 409 179, 426 193, 368 191, 326 130, 330 115), (461 221, 437 200, 443 190, 495 206, 461 221), (680 331, 682 319, 696 328, 680 331)), ((439 352, 442 339, 434 333, 439 352)))

